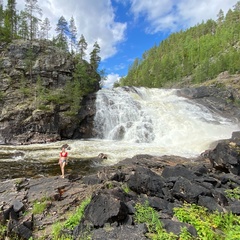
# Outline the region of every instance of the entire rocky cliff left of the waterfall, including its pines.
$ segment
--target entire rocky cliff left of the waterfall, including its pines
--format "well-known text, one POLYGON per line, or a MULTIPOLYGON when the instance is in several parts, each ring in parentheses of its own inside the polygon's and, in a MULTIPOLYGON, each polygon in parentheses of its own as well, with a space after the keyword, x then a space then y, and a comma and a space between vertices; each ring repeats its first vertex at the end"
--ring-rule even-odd
POLYGON ((61 16, 50 39, 37 0, 25 0, 20 12, 16 0, 6 2, 0 0, 0 143, 82 137, 91 125, 84 100, 100 89, 98 43, 86 57, 73 17, 61 16))

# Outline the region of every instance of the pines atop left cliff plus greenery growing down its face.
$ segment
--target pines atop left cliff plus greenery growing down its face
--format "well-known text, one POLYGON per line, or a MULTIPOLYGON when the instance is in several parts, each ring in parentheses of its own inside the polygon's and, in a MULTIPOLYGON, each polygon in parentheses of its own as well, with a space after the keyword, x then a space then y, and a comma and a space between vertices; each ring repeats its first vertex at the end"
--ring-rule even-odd
MULTIPOLYGON (((51 24, 48 18, 41 19, 42 9, 38 5, 38 0, 25 0, 24 10, 18 12, 16 10, 16 0, 7 0, 7 4, 3 6, 3 0, 0 0, 0 45, 2 43, 10 43, 16 39, 33 41, 42 41, 42 43, 56 46, 61 51, 70 54, 73 57, 74 72, 72 80, 66 82, 64 89, 55 91, 54 89, 46 89, 42 86, 40 76, 36 76, 35 81, 36 96, 40 105, 45 106, 48 103, 62 104, 69 103, 71 112, 76 114, 80 108, 80 101, 84 95, 97 91, 101 84, 101 76, 103 71, 98 69, 101 57, 100 46, 97 42, 94 43, 93 49, 90 52, 89 62, 86 59, 88 43, 81 34, 77 38, 77 27, 75 20, 71 17, 69 23, 64 16, 61 16, 56 25, 56 36, 49 39, 51 24), (66 94, 71 92, 72 94, 66 94)), ((34 61, 33 52, 30 48, 25 61, 28 63, 28 72, 30 73, 31 83, 31 67, 34 61)), ((31 88, 27 84, 26 76, 22 76, 20 81, 20 91, 24 97, 29 97, 27 94, 31 88), (29 88, 29 89, 28 89, 29 88)))

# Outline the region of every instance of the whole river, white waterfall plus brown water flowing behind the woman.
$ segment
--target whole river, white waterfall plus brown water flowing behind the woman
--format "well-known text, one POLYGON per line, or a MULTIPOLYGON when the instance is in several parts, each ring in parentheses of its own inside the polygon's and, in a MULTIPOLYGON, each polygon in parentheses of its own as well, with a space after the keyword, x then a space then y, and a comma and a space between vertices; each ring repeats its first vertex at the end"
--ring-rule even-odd
POLYGON ((1 145, 0 178, 60 174, 60 147, 70 145, 67 174, 95 172, 136 154, 195 157, 239 131, 239 123, 178 97, 175 90, 103 89, 96 101, 98 138, 48 144, 1 145), (99 162, 99 153, 108 155, 99 162))

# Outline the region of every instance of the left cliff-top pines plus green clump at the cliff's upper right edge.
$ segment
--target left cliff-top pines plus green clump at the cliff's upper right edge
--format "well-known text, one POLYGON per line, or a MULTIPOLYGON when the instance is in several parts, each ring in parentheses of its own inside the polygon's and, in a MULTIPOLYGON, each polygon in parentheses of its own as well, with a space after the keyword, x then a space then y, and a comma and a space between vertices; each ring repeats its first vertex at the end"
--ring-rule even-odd
POLYGON ((4 50, 4 46, 18 39, 30 42, 41 41, 41 44, 57 47, 74 59, 73 85, 75 88, 81 86, 81 89, 78 87, 77 94, 83 96, 98 90, 100 75, 103 73, 98 70, 101 61, 100 46, 95 42, 89 56, 86 56, 88 43, 83 34, 79 34, 80 38, 77 38, 74 17, 67 21, 61 16, 54 27, 56 35, 50 39, 52 26, 48 18, 41 18, 43 14, 38 0, 25 0, 25 8, 20 12, 17 11, 16 4, 16 0, 7 0, 6 6, 3 6, 3 0, 0 0, 1 49, 4 50), (86 60, 87 58, 89 61, 86 60))

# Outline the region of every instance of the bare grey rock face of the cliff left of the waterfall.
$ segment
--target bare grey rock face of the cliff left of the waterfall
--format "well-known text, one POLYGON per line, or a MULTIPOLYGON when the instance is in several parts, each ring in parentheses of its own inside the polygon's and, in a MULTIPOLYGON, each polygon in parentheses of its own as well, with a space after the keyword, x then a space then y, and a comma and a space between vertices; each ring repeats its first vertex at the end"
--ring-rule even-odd
POLYGON ((0 143, 90 137, 85 118, 86 109, 92 109, 87 114, 91 126, 94 94, 90 96, 93 101, 87 101, 93 106, 85 106, 86 100, 79 99, 83 106, 76 114, 69 114, 71 104, 64 101, 72 94, 66 85, 73 81, 74 68, 70 54, 46 42, 16 40, 0 46, 0 143), (63 89, 68 94, 62 100, 54 99, 63 89))

